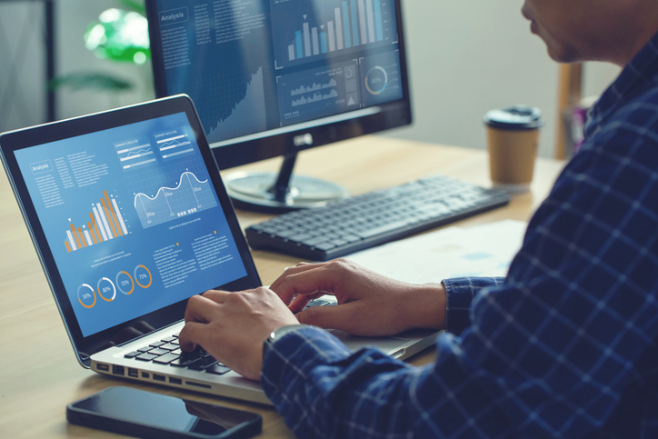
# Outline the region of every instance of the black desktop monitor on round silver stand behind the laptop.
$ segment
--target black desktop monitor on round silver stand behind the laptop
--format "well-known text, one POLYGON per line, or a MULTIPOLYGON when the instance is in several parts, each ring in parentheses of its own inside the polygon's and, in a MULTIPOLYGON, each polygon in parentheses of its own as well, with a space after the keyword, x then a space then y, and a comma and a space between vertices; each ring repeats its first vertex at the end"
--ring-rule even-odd
POLYGON ((278 175, 224 177, 236 207, 343 197, 293 175, 297 153, 411 124, 400 0, 146 0, 146 11, 156 95, 192 97, 220 168, 284 156, 278 175))

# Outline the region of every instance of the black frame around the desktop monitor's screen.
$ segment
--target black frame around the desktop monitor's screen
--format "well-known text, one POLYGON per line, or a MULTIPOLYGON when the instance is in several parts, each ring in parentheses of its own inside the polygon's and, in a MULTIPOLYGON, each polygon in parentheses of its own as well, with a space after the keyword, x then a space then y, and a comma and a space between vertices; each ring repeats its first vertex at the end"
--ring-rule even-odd
MULTIPOLYGON (((364 109, 345 112, 341 115, 349 115, 354 113, 355 117, 338 121, 330 122, 325 125, 317 125, 310 128, 299 127, 295 125, 289 127, 289 130, 282 134, 267 135, 268 132, 264 131, 261 136, 251 140, 234 139, 233 144, 222 146, 211 145, 211 150, 217 160, 217 164, 221 169, 229 169, 235 166, 248 165, 250 163, 274 158, 280 155, 294 155, 296 153, 311 149, 317 146, 329 145, 335 142, 340 142, 361 135, 371 135, 385 130, 401 127, 404 125, 411 125, 412 118, 412 103, 409 93, 409 76, 407 71, 406 50, 404 44, 404 17, 402 13, 401 0, 394 0, 397 36, 398 36, 398 50, 400 54, 400 77, 402 79, 403 98, 392 101, 387 104, 377 105, 374 108, 373 114, 359 115, 364 109), (308 142, 295 142, 295 139, 309 138, 311 135, 313 141, 308 142), (295 145, 296 144, 296 145, 295 145)), ((145 0, 146 17, 149 22, 149 35, 151 38, 151 58, 153 65, 155 95, 157 97, 165 97, 168 95, 166 78, 165 78, 165 61, 164 54, 161 50, 161 37, 160 26, 157 20, 157 0, 145 0)), ((331 118, 329 118, 331 119, 331 118)), ((308 123, 299 124, 308 125, 308 123)))

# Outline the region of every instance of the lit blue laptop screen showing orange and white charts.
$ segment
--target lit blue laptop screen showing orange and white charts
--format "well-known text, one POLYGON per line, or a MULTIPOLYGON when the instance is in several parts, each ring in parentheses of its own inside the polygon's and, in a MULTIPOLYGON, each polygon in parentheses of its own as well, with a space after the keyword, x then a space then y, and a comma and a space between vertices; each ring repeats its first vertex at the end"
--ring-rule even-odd
POLYGON ((15 151, 84 337, 247 275, 197 135, 182 112, 15 151))

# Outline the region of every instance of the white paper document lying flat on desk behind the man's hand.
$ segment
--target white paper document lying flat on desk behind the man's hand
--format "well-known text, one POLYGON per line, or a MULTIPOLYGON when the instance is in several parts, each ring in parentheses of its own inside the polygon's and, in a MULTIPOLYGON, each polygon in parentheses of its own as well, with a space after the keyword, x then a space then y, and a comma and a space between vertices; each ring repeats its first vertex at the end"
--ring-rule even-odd
POLYGON ((505 276, 527 226, 514 220, 453 226, 351 254, 347 259, 411 284, 460 276, 505 276))

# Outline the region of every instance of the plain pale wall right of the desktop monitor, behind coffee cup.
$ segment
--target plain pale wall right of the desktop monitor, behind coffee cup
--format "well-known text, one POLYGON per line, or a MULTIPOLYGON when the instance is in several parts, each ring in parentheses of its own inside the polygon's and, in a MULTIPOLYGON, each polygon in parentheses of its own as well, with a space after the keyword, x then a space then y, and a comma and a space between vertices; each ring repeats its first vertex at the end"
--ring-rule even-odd
MULTIPOLYGON (((540 154, 553 156, 558 65, 530 33, 523 0, 408 0, 405 35, 414 126, 393 137, 484 148, 483 115, 525 104, 543 111, 540 154)), ((585 66, 584 94, 599 95, 614 65, 585 66)))

